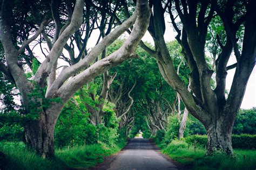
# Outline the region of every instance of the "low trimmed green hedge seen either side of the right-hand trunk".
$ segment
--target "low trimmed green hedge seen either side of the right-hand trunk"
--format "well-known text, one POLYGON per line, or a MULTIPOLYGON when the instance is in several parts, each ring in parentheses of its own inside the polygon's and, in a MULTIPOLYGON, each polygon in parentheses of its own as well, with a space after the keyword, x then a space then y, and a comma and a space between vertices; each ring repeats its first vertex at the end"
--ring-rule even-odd
MULTIPOLYGON (((207 145, 207 135, 192 135, 185 138, 186 143, 205 147, 207 145)), ((256 134, 232 134, 233 148, 256 149, 256 134)))

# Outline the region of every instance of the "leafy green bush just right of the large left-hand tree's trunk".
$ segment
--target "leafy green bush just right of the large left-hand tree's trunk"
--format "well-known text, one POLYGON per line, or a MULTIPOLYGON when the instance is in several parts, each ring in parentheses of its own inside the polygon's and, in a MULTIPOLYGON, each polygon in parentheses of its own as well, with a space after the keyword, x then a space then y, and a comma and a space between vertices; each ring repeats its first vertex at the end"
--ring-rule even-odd
POLYGON ((68 102, 58 118, 55 128, 55 146, 76 146, 96 144, 96 127, 89 123, 89 114, 84 114, 78 107, 68 102))

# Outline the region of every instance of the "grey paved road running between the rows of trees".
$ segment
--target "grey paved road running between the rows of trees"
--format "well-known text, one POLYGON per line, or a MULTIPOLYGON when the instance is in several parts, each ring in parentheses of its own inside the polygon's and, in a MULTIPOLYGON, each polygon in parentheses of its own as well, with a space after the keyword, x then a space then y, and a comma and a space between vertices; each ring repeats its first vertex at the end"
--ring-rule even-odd
POLYGON ((117 155, 109 169, 176 169, 172 162, 166 160, 154 150, 149 140, 131 139, 125 149, 117 155))

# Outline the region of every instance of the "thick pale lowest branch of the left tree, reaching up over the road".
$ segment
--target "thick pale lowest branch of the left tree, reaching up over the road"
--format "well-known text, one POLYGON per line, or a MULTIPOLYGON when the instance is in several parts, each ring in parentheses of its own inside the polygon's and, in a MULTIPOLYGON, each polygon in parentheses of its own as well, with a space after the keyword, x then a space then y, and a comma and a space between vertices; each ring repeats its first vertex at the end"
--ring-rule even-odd
MULTIPOLYGON (((93 77, 95 77, 99 73, 105 72, 109 68, 122 63, 126 59, 137 57, 137 55, 134 55, 133 53, 134 53, 137 45, 139 44, 140 39, 144 36, 144 33, 146 32, 147 26, 149 24, 149 22, 148 22, 149 16, 151 13, 149 5, 148 5, 148 3, 146 3, 146 0, 140 0, 137 2, 136 12, 134 12, 134 13, 135 14, 133 14, 133 15, 135 15, 134 17, 137 17, 137 19, 136 19, 136 22, 134 24, 134 27, 133 27, 133 30, 132 30, 130 36, 126 39, 123 46, 120 47, 116 52, 107 56, 106 58, 95 62, 91 67, 87 68, 82 73, 72 77, 67 83, 63 84, 63 86, 59 88, 57 93, 61 96, 61 98, 63 98, 64 101, 69 100, 70 96, 73 93, 75 93, 75 91, 77 89, 82 87, 83 84, 85 84, 86 82, 91 81, 93 79, 93 77), (69 90, 67 90, 67 89, 69 89, 69 90)), ((133 18, 132 18, 132 20, 133 20, 133 18)), ((130 27, 131 24, 133 23, 132 20, 130 20, 128 23, 125 22, 124 26, 126 28, 130 27)), ((118 30, 118 29, 116 29, 116 30, 118 30)), ((126 31, 126 29, 124 29, 123 27, 121 27, 118 31, 116 31, 116 30, 114 30, 109 35, 107 35, 109 37, 107 37, 107 36, 105 37, 107 42, 111 42, 115 38, 117 38, 119 33, 121 33, 120 31, 122 31, 122 30, 123 30, 123 32, 126 31), (118 35, 114 34, 114 33, 117 33, 118 35), (110 37, 114 37, 114 38, 111 40, 108 40, 110 37)), ((98 45, 100 45, 101 47, 106 46, 105 44, 98 44, 98 45)), ((97 48, 97 49, 99 49, 99 48, 97 48)), ((93 52, 91 51, 90 54, 95 55, 95 53, 97 54, 98 52, 99 51, 96 52, 95 50, 93 50, 93 52)), ((87 59, 87 57, 86 57, 86 59, 87 59)), ((82 62, 82 61, 80 61, 80 62, 82 62)), ((81 64, 83 64, 83 62, 81 64)))

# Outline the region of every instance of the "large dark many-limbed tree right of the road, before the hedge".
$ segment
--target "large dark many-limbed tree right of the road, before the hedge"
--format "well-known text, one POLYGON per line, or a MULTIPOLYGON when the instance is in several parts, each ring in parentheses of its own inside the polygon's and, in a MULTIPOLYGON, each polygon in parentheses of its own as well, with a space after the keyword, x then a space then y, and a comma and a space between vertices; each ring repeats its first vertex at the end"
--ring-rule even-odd
POLYGON ((255 62, 256 28, 253 23, 256 21, 256 2, 175 0, 163 4, 160 1, 151 1, 151 4, 154 11, 148 30, 154 39, 156 50, 146 46, 143 48, 156 58, 165 81, 178 91, 187 110, 204 124, 208 136, 207 154, 220 150, 233 155, 232 127, 255 62), (178 77, 164 41, 166 9, 190 68, 191 93, 178 77), (177 22, 174 15, 178 15, 180 22, 177 22), (221 43, 223 40, 218 41, 221 52, 214 61, 216 86, 212 88, 214 70, 208 66, 205 48, 207 27, 215 16, 219 16, 224 25, 225 40, 224 43, 221 43), (244 28, 243 37, 237 34, 239 28, 244 28), (239 42, 242 42, 241 51, 239 42), (232 50, 237 63, 227 66, 232 50), (225 97, 227 70, 232 68, 235 68, 235 75, 230 93, 225 97))

